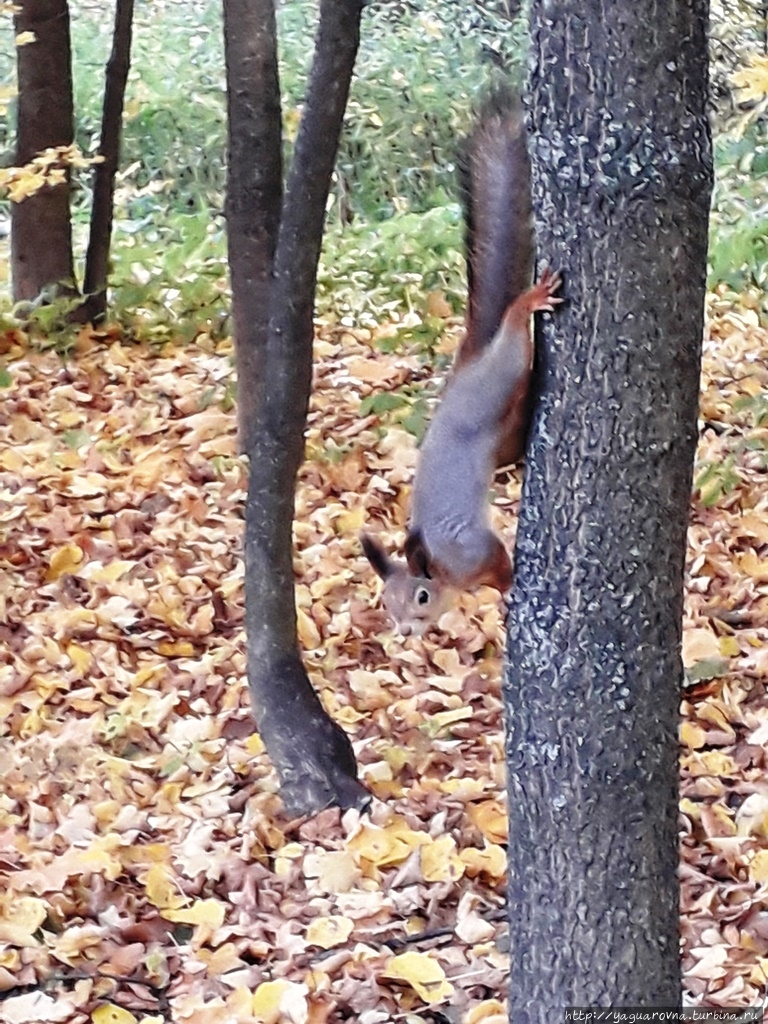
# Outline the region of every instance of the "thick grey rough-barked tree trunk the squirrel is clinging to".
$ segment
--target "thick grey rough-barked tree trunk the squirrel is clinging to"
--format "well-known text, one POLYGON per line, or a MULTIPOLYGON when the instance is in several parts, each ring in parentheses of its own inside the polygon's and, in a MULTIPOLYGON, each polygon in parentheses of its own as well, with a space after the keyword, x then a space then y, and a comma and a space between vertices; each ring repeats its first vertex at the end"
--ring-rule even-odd
POLYGON ((517 536, 510 1020, 677 1006, 683 561, 711 191, 706 0, 535 0, 548 324, 517 536))

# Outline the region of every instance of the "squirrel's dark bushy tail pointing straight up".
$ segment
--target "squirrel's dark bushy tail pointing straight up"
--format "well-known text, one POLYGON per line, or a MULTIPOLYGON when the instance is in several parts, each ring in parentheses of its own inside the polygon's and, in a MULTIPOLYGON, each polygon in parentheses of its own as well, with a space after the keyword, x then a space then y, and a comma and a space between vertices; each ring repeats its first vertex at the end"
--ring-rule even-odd
POLYGON ((490 342, 531 280, 530 162, 522 105, 511 89, 497 89, 483 105, 460 171, 469 301, 459 365, 490 342))

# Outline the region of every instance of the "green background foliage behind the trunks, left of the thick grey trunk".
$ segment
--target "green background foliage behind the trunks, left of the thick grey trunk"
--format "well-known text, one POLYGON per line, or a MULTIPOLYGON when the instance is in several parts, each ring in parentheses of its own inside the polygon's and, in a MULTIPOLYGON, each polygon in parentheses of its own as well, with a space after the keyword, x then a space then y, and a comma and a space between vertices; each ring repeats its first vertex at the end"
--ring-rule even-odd
MULTIPOLYGON (((506 0, 378 0, 365 12, 319 268, 318 309, 380 321, 426 309, 431 292, 463 308, 465 283, 457 154, 472 109, 498 67, 519 73, 523 26, 506 0)), ((98 144, 114 2, 71 0, 77 141, 98 144)), ((316 0, 278 8, 287 156, 300 120, 316 0)), ((10 33, 9 22, 5 26, 10 33)), ((12 79, 13 47, 0 55, 12 79)), ((2 48, 0 48, 2 50, 2 48)), ((111 308, 137 337, 227 331, 223 231, 226 94, 220 5, 137 4, 115 197, 111 308)), ((12 123, 12 111, 8 123, 12 123)), ((0 138, 10 160, 13 139, 0 138)), ((85 238, 90 175, 74 177, 74 219, 85 238)), ((83 246, 80 245, 81 251, 83 246)), ((48 315, 48 314, 41 314, 48 315)), ((40 330, 53 330, 58 313, 40 330)), ((60 318, 60 317, 59 317, 60 318)), ((442 327, 428 318, 425 352, 442 327)), ((415 329, 412 329, 415 330, 415 329)))

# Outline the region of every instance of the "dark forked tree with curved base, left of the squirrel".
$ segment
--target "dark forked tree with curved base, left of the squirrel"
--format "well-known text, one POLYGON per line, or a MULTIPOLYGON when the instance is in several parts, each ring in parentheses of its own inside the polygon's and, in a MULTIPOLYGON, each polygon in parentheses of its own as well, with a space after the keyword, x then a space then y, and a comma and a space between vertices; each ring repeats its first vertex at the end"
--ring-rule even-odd
POLYGON ((246 632, 254 714, 293 813, 360 805, 351 744, 304 671, 292 523, 312 370, 325 207, 359 38, 360 0, 323 0, 315 56, 281 207, 281 119, 270 0, 224 0, 227 229, 241 440, 250 458, 246 632))

